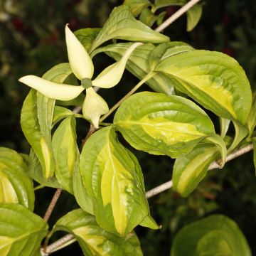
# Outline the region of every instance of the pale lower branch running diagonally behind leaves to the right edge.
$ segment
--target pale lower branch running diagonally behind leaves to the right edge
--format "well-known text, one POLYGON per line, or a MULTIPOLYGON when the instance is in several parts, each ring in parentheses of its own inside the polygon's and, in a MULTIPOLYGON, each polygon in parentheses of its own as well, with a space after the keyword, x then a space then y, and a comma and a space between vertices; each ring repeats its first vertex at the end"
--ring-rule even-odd
MULTIPOLYGON (((243 147, 242 149, 238 149, 227 156, 226 162, 231 161, 237 158, 238 156, 241 156, 242 154, 245 154, 251 151, 252 149, 253 149, 252 144, 249 144, 243 147)), ((220 168, 220 164, 218 164, 218 161, 214 161, 212 164, 210 164, 208 170, 217 169, 217 168, 220 168)), ((163 183, 160 186, 157 186, 156 188, 152 188, 150 191, 146 192, 146 198, 151 198, 152 196, 155 196, 161 192, 164 192, 169 188, 171 188, 172 185, 173 185, 172 181, 167 181, 166 183, 163 183)), ((46 252, 48 252, 49 254, 50 252, 56 251, 58 250, 58 248, 62 248, 63 244, 73 239, 74 239, 74 236, 72 234, 65 235, 63 238, 60 238, 56 242, 53 242, 51 245, 48 245, 48 247, 46 248, 46 252)))

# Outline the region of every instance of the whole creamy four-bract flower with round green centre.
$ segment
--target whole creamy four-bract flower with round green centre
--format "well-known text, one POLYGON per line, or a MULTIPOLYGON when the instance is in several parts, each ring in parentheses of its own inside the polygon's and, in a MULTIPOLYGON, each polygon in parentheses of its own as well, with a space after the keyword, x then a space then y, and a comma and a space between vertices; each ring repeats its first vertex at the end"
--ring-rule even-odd
POLYGON ((19 81, 38 90, 38 92, 41 92, 46 97, 55 100, 73 100, 83 90, 86 90, 85 101, 82 105, 82 114, 95 127, 98 127, 100 116, 107 113, 109 108, 107 102, 93 90, 92 86, 110 88, 117 85, 122 78, 129 55, 132 54, 137 46, 142 45, 142 43, 132 44, 119 61, 105 68, 97 78, 91 80, 94 72, 92 59, 80 41, 78 41, 78 38, 70 31, 68 24, 65 26, 65 40, 67 43, 70 68, 81 81, 80 86, 51 82, 39 78, 36 75, 26 75, 20 78, 19 81))

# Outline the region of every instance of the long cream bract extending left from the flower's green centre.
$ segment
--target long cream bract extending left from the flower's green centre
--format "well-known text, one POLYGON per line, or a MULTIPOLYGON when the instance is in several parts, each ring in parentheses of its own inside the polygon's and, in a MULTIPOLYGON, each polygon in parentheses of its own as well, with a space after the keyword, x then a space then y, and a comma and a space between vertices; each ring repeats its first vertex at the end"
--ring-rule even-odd
POLYGON ((18 81, 55 100, 73 100, 84 90, 82 86, 65 85, 51 82, 36 75, 26 75, 18 81))

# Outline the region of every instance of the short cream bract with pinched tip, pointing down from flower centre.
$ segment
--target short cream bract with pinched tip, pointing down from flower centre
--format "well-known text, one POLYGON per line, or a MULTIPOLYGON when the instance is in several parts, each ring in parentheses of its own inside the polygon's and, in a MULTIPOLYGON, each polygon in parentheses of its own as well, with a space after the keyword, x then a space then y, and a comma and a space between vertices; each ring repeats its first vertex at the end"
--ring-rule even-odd
POLYGON ((107 102, 92 87, 86 90, 85 101, 82 105, 82 114, 86 119, 91 120, 96 128, 99 127, 100 116, 106 114, 108 110, 107 102))

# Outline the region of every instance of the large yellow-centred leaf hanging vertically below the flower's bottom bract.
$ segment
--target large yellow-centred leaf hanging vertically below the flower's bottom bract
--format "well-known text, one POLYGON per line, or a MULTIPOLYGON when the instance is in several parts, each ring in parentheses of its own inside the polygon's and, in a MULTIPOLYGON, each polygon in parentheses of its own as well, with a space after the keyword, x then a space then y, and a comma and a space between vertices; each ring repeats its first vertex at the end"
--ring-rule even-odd
POLYGON ((80 174, 100 227, 125 236, 149 215, 142 170, 112 127, 92 134, 80 156, 80 174))

